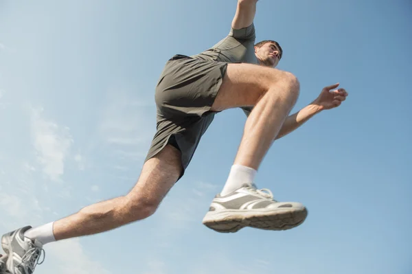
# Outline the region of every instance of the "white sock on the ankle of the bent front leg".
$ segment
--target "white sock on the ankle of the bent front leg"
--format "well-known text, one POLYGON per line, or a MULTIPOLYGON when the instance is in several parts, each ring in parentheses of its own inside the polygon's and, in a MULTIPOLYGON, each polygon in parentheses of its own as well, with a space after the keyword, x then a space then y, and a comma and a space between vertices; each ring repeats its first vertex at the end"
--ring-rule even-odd
POLYGON ((257 170, 248 168, 244 165, 232 165, 227 178, 226 184, 223 187, 221 196, 225 196, 235 190, 238 190, 244 183, 253 183, 257 170))

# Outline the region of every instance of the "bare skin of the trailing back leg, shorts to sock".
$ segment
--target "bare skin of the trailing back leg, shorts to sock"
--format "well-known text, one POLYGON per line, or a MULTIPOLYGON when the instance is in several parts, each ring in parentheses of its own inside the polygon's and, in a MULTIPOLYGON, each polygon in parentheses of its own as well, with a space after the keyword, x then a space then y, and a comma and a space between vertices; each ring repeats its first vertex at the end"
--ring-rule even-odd
POLYGON ((155 213, 181 171, 179 150, 165 146, 156 157, 146 161, 139 181, 126 196, 89 205, 54 222, 54 237, 63 240, 91 235, 147 218, 155 213))

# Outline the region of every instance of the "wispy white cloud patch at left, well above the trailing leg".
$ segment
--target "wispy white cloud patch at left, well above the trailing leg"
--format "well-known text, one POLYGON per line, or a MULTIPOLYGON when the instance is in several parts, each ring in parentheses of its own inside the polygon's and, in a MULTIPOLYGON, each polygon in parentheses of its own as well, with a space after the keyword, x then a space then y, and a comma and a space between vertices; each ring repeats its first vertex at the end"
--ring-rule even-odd
POLYGON ((42 110, 32 109, 31 129, 34 148, 38 154, 38 162, 43 167, 43 173, 52 181, 60 181, 73 139, 69 135, 69 128, 47 121, 41 114, 42 110))

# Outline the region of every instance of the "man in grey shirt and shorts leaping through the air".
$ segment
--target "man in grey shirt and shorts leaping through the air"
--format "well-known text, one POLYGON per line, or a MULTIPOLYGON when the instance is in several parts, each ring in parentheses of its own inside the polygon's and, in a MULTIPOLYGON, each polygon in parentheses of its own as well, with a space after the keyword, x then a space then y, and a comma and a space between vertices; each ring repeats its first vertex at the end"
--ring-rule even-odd
POLYGON ((220 232, 242 227, 282 230, 304 222, 300 203, 278 203, 258 190, 254 177, 273 140, 287 135, 310 117, 345 100, 344 89, 325 87, 301 111, 289 115, 299 95, 292 73, 274 69, 282 48, 275 41, 255 45, 257 0, 239 0, 229 35, 195 56, 173 56, 157 89, 157 133, 139 180, 125 196, 89 205, 80 212, 41 227, 6 233, 2 246, 11 273, 34 271, 49 242, 87 236, 148 218, 183 176, 203 133, 220 111, 242 108, 248 115, 236 159, 222 191, 212 201, 203 224, 220 232))

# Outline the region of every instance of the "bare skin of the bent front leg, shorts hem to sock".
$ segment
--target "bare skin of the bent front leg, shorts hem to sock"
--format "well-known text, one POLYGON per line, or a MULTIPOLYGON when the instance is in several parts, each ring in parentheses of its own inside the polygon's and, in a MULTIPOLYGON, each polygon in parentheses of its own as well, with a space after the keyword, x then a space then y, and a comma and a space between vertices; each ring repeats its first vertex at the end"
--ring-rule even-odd
POLYGON ((254 106, 235 164, 258 170, 298 95, 299 82, 292 73, 257 65, 228 65, 212 110, 254 106))

